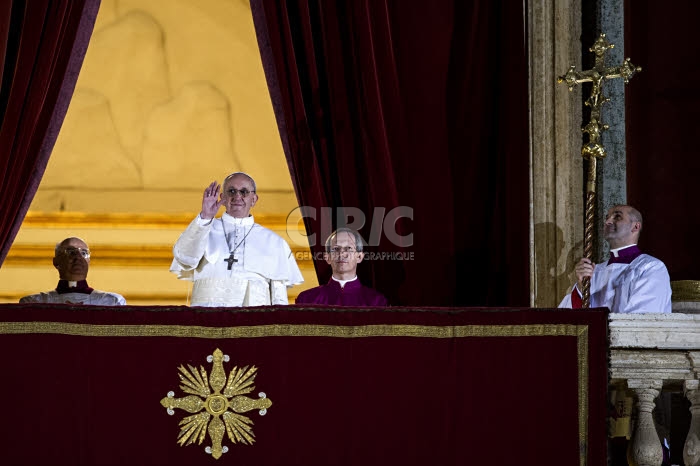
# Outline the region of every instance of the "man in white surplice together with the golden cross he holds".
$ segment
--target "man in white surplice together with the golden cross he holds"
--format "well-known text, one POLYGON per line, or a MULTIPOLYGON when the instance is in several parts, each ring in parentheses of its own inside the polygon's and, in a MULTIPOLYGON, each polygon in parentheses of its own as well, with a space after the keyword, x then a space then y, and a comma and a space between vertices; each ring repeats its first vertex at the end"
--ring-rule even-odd
POLYGON ((591 108, 591 120, 583 127, 588 134, 588 143, 581 150, 584 159, 588 160, 584 257, 576 264, 577 283, 559 307, 607 307, 611 312, 621 313, 670 313, 671 286, 666 266, 660 260, 642 254, 637 247, 642 230, 642 215, 637 209, 627 205, 610 208, 604 227, 605 240, 611 248, 610 260, 597 265, 592 261, 596 162, 606 155, 600 135, 608 129, 600 115, 601 107, 607 101, 602 94, 602 85, 606 79, 618 77, 627 83, 636 72, 641 71, 641 68, 632 65, 629 58, 619 67, 607 68, 605 52, 612 47, 605 34, 601 34, 591 48, 595 53, 593 69, 577 72, 571 66, 566 75, 559 78, 559 82, 566 81, 569 90, 582 82, 593 83, 591 96, 586 101, 591 108))

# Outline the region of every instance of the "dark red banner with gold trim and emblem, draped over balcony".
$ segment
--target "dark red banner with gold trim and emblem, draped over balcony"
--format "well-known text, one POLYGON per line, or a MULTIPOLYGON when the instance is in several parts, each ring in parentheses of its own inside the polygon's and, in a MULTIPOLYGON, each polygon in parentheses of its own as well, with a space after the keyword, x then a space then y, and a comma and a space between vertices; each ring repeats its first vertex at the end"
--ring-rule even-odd
POLYGON ((0 306, 12 465, 603 465, 607 311, 0 306))

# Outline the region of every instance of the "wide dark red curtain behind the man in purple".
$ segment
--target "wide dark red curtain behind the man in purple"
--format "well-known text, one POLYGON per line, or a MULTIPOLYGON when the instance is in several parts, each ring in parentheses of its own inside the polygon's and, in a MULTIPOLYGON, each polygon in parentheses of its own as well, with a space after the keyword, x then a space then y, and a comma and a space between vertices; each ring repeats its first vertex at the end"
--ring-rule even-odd
POLYGON ((312 250, 349 214, 392 304, 527 305, 523 3, 251 8, 312 250))

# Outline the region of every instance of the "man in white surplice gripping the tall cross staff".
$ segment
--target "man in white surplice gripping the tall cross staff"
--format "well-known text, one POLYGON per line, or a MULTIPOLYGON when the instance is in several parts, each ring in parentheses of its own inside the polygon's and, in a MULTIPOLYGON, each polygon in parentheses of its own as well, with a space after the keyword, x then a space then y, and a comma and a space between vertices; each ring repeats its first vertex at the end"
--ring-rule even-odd
POLYGON ((642 214, 626 205, 608 210, 603 232, 610 245, 610 260, 593 264, 582 258, 576 264, 571 293, 559 307, 580 308, 583 279, 591 279, 590 307, 607 307, 621 313, 670 313, 671 281, 659 259, 643 254, 637 247, 642 231, 642 214))

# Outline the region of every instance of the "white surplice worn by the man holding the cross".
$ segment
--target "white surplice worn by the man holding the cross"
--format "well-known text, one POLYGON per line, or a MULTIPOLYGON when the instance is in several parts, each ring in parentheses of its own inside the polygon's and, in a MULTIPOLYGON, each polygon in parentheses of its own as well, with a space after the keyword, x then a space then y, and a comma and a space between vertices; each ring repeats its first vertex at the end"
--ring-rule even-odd
MULTIPOLYGON (((580 296, 576 285, 572 293, 580 296)), ((571 293, 559 307, 577 307, 572 305, 571 293)), ((621 313, 670 313, 671 281, 666 266, 642 254, 636 245, 612 250, 611 259, 593 270, 590 307, 621 313)))

